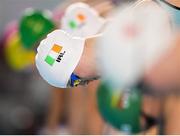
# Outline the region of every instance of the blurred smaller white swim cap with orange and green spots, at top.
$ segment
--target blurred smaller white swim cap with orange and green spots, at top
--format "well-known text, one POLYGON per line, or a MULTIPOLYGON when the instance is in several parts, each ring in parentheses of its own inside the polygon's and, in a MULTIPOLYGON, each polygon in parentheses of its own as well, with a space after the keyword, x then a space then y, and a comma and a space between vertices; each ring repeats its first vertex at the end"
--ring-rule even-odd
POLYGON ((89 37, 100 32, 105 19, 85 3, 71 4, 61 21, 61 29, 77 37, 89 37))

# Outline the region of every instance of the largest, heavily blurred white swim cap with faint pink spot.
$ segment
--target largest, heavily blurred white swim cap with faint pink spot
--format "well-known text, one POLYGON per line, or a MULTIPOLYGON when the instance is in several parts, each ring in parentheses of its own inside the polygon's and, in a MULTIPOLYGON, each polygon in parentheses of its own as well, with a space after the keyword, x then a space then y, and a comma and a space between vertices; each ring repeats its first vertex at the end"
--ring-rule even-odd
POLYGON ((167 14, 154 3, 118 10, 98 41, 101 75, 115 87, 135 85, 169 48, 167 14))

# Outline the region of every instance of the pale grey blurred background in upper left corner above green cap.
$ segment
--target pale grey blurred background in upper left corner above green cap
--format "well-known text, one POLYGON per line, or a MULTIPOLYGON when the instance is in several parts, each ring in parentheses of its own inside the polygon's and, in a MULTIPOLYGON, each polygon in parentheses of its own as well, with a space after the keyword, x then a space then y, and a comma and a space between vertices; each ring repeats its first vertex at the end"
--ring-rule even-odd
POLYGON ((64 0, 1 0, 0 4, 0 17, 1 17, 1 23, 0 23, 0 31, 2 34, 3 28, 6 26, 7 23, 9 23, 12 20, 18 20, 20 19, 21 15, 23 14, 24 10, 26 8, 33 7, 35 9, 49 9, 53 10, 57 7, 57 5, 60 5, 63 3, 64 0))

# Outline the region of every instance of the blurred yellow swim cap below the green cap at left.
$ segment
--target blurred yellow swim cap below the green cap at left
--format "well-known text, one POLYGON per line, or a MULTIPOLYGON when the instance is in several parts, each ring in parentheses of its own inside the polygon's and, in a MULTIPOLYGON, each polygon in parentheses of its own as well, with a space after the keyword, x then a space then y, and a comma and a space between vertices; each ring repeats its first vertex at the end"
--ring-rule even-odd
POLYGON ((18 32, 9 35, 5 42, 4 53, 7 64, 16 71, 25 70, 34 64, 35 52, 26 50, 18 32))

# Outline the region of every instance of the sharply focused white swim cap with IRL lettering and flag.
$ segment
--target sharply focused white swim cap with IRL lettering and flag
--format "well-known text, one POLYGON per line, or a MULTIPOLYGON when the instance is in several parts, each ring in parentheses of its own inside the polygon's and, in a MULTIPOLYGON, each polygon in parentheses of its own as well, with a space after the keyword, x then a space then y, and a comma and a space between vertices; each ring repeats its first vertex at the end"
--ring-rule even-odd
POLYGON ((74 38, 62 30, 55 30, 37 48, 36 66, 49 84, 66 88, 76 68, 85 40, 74 38))

